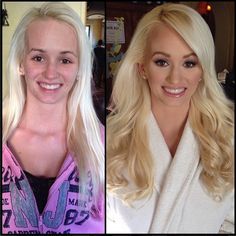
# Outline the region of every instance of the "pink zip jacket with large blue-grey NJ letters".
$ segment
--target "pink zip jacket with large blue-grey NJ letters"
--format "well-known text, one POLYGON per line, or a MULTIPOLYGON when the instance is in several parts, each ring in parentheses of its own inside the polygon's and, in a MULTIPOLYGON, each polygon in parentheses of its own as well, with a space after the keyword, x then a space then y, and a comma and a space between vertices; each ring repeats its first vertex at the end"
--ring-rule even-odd
POLYGON ((93 214, 93 206, 88 207, 92 186, 88 186, 87 200, 81 200, 71 155, 67 155, 40 215, 30 184, 7 145, 2 153, 2 233, 104 233, 104 196, 101 194, 99 213, 93 214))

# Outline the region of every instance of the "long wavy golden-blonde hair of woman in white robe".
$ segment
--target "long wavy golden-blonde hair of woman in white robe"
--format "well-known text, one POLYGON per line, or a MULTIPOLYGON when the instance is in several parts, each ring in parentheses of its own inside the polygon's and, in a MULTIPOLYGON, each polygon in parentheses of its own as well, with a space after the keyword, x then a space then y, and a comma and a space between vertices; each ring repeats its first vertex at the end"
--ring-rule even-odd
POLYGON ((140 20, 117 71, 107 120, 107 189, 125 203, 153 191, 155 170, 146 127, 150 94, 137 63, 143 62, 151 30, 163 23, 181 35, 202 66, 203 78, 191 98, 189 121, 199 144, 201 182, 212 198, 222 199, 233 186, 233 104, 217 81, 208 25, 192 8, 171 3, 152 9, 140 20), (135 187, 127 192, 130 183, 135 187))

